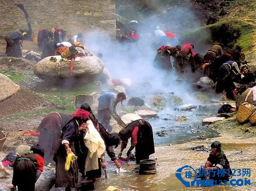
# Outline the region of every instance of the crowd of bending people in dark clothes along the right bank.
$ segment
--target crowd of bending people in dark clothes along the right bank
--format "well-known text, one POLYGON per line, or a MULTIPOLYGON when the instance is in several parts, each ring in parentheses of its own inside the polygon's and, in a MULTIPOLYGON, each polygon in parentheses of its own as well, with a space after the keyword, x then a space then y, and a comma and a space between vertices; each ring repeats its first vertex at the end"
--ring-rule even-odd
POLYGON ((216 93, 226 93, 231 100, 236 100, 236 93, 241 85, 253 84, 255 76, 249 71, 249 66, 244 60, 244 53, 240 46, 236 46, 234 51, 224 52, 223 45, 213 45, 202 57, 194 52, 194 45, 184 44, 183 46, 162 45, 157 49, 154 60, 155 67, 163 70, 171 70, 173 67, 179 76, 186 76, 187 73, 194 73, 194 77, 199 80, 202 76, 209 77, 215 83, 216 93), (170 57, 174 58, 171 64, 170 57), (198 77, 199 76, 199 77, 198 77))

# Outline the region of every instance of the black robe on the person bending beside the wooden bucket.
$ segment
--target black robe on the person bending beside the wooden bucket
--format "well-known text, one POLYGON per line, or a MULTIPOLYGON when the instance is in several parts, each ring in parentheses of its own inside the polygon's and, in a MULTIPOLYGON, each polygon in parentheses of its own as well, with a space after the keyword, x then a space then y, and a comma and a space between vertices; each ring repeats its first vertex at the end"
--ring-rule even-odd
POLYGON ((127 127, 119 132, 121 140, 128 141, 136 126, 139 127, 137 134, 137 144, 135 146, 136 163, 140 160, 149 159, 149 155, 155 153, 153 130, 148 121, 144 121, 144 125, 139 122, 140 120, 133 121, 127 127))

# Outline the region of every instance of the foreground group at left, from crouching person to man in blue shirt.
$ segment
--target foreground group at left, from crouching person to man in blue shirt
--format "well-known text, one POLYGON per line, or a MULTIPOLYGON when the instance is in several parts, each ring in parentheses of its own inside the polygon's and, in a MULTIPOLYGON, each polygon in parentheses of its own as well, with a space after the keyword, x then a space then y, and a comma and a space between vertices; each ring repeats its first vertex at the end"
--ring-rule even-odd
POLYGON ((38 144, 32 146, 29 153, 12 159, 13 188, 34 191, 44 166, 51 164, 56 166, 55 187, 70 191, 80 184, 83 190, 94 190, 96 180, 101 177, 101 169, 106 171, 108 168, 105 151, 120 169, 118 159, 122 159, 122 152, 129 138, 131 147, 126 153, 127 157, 135 148, 137 164, 140 160, 149 159, 150 154, 155 153, 155 146, 152 127, 148 121, 139 119, 128 124, 119 133, 110 133, 110 119, 106 116, 111 118, 111 115, 118 115, 116 106, 125 99, 124 93, 102 94, 98 99, 99 120, 87 103, 82 104, 72 115, 58 112, 46 115, 38 127, 38 144), (114 147, 117 148, 120 143, 120 153, 115 155, 114 147))

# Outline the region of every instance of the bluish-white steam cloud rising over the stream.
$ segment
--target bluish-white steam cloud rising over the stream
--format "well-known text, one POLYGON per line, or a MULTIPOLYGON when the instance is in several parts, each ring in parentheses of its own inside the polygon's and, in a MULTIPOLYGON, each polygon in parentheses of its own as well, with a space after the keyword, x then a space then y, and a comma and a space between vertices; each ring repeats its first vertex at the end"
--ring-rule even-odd
MULTIPOLYGON (((145 97, 147 101, 154 94, 174 92, 176 96, 183 98, 185 104, 199 104, 199 101, 191 96, 191 80, 178 82, 176 79, 179 76, 174 70, 164 71, 153 67, 156 50, 151 45, 155 41, 153 32, 157 26, 164 32, 175 33, 179 38, 201 25, 188 8, 168 8, 162 14, 150 17, 138 25, 139 40, 136 43, 120 44, 105 33, 92 32, 86 35, 84 45, 95 55, 99 52, 103 54, 102 60, 112 79, 131 79, 132 84, 129 88, 131 96, 145 97)), ((182 43, 184 42, 179 42, 181 45, 182 43)), ((209 45, 201 47, 209 48, 209 45)), ((195 46, 194 51, 197 50, 203 51, 203 54, 207 51, 195 46)))

